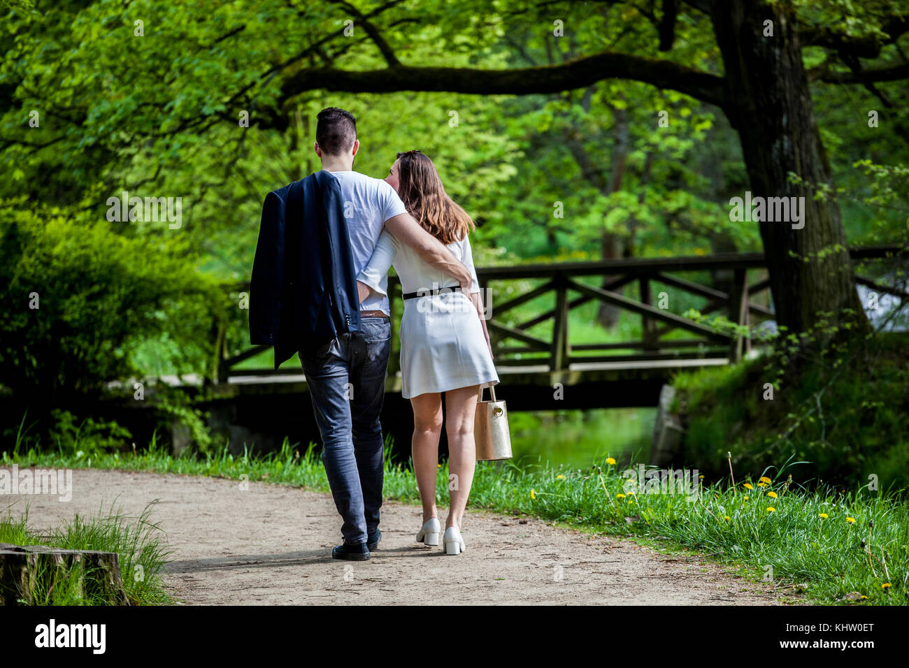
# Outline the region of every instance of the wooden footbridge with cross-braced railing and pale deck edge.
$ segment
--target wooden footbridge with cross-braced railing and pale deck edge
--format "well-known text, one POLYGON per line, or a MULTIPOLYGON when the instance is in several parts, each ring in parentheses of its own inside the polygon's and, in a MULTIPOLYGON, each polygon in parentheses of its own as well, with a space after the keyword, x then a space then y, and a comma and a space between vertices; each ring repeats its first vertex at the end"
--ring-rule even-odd
MULTIPOLYGON (((851 254, 859 263, 897 251, 896 246, 877 246, 851 254)), ((477 275, 502 380, 500 394, 513 400, 515 409, 654 405, 660 386, 674 373, 738 360, 761 344, 759 333, 768 325, 773 328, 764 254, 526 264, 486 267, 477 275), (594 325, 600 304, 618 314, 614 329, 594 325), (717 329, 686 317, 689 309, 723 315, 726 326, 717 329), (572 314, 578 314, 574 321, 572 314), (583 391, 565 392, 565 401, 554 404, 557 384, 583 391)), ((882 294, 907 297, 866 276, 856 275, 856 281, 882 294)), ((403 302, 395 276, 389 277, 389 295, 393 341, 386 395, 399 396, 395 321, 403 302)), ((267 368, 253 367, 250 363, 269 346, 235 350, 223 329, 215 341, 216 364, 209 379, 215 397, 306 392, 296 360, 274 371, 267 356, 267 368)))

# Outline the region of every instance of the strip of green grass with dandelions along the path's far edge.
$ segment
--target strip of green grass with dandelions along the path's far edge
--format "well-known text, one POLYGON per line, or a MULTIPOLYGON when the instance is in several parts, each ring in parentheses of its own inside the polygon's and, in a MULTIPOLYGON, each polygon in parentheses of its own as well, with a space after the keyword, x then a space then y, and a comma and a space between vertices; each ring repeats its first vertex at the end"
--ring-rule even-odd
MULTIPOLYGON (((92 466, 232 480, 245 475, 328 491, 314 447, 301 451, 286 442, 279 452, 264 456, 234 456, 224 450, 173 457, 152 444, 141 453, 92 457, 29 450, 16 461, 20 466, 92 466)), ((4 455, 4 463, 12 459, 4 455)), ((445 490, 446 481, 447 469, 441 466, 438 489, 445 490)), ((909 603, 909 507, 903 496, 866 488, 848 494, 801 489, 789 481, 785 466, 769 486, 750 481, 753 489, 746 490, 744 482, 738 480, 733 488, 724 480, 702 481, 699 498, 691 502, 686 494, 660 494, 644 485, 629 489, 622 471, 608 460, 583 470, 478 463, 471 506, 526 513, 591 533, 633 536, 663 549, 689 548, 753 579, 772 569, 781 595, 804 592, 817 603, 838 603, 852 592, 867 597, 862 603, 909 603), (884 588, 884 583, 890 586, 884 588)), ((412 471, 387 458, 385 495, 405 503, 418 500, 412 471)), ((446 502, 442 494, 437 498, 446 502)))

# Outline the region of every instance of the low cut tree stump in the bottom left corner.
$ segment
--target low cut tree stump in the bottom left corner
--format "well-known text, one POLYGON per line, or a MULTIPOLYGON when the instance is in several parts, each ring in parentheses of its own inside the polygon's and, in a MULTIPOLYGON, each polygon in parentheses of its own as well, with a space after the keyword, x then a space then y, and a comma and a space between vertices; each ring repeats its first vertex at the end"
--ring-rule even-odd
POLYGON ((62 586, 89 602, 129 605, 117 553, 0 543, 0 605, 46 603, 62 586))

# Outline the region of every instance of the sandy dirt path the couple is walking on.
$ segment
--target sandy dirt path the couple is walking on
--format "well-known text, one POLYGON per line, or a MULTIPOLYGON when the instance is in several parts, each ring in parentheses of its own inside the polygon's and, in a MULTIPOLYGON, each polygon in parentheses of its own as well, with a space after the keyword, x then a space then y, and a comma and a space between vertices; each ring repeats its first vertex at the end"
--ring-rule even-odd
POLYGON ((467 551, 446 557, 415 543, 419 508, 385 503, 381 549, 351 563, 330 557, 341 533, 331 497, 293 487, 244 491, 224 479, 76 470, 68 503, 33 494, 3 505, 17 498, 13 513, 30 503, 39 531, 102 503, 138 515, 160 499, 152 519, 173 551, 165 582, 186 603, 776 603, 772 587, 693 557, 494 513, 470 512, 467 551))

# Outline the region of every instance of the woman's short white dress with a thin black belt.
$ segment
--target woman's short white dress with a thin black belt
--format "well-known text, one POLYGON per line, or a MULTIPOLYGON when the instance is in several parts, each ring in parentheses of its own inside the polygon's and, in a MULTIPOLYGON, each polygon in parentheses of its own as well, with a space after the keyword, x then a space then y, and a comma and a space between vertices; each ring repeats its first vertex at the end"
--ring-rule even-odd
MULTIPOLYGON (((448 244, 448 249, 474 276, 471 293, 479 293, 470 241, 448 244)), ((426 264, 416 252, 383 231, 373 256, 356 280, 385 294, 388 268, 394 264, 404 294, 448 287, 453 292, 425 294, 404 300, 401 316, 401 394, 411 399, 430 392, 459 387, 489 387, 499 382, 489 354, 483 324, 470 297, 454 278, 426 264)))

